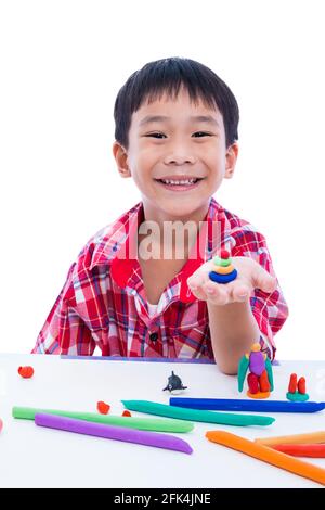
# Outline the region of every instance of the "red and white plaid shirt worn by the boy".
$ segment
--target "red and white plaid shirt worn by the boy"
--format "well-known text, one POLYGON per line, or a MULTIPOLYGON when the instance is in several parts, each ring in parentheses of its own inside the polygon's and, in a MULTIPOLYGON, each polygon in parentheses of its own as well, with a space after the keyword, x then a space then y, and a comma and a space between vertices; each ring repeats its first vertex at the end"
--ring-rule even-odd
MULTIPOLYGON (((87 243, 32 353, 89 356, 98 345, 103 356, 213 359, 207 304, 192 294, 186 279, 221 248, 232 256, 251 257, 275 276, 263 235, 212 197, 188 260, 150 317, 138 241, 134 245, 143 220, 140 202, 87 243)), ((272 294, 255 290, 250 305, 262 349, 273 358, 274 334, 288 315, 280 286, 272 294)))

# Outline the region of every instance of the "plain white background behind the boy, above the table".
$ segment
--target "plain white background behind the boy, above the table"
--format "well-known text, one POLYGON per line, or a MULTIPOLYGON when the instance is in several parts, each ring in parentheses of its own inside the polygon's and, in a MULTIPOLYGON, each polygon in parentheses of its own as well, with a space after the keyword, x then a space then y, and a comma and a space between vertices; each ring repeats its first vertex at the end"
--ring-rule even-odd
POLYGON ((216 199, 268 239, 290 307, 278 358, 325 359, 324 1, 0 1, 0 350, 28 353, 68 268, 140 200, 113 106, 146 62, 211 67, 240 107, 216 199))

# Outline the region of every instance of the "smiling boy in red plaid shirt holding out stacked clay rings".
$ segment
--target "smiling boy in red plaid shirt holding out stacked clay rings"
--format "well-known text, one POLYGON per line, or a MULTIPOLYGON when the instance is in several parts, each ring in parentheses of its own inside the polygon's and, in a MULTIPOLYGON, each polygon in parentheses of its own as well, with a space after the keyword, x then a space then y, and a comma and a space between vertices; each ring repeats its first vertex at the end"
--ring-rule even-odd
POLYGON ((212 196, 233 177, 238 119, 232 91, 198 62, 130 76, 113 152, 142 201, 87 243, 34 353, 214 358, 224 373, 255 342, 274 358, 288 309, 265 240, 212 196), (221 250, 238 272, 226 284, 208 277, 221 250))

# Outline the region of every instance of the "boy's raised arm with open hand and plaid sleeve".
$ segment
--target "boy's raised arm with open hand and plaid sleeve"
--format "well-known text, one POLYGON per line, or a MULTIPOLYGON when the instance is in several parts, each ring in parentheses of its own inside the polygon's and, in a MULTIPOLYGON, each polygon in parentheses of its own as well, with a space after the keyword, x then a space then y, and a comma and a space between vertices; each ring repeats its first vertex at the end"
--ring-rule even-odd
POLYGON ((264 238, 253 230, 242 230, 233 239, 235 256, 232 260, 238 270, 236 280, 225 285, 211 282, 208 272, 213 266, 212 260, 188 279, 193 294, 207 302, 214 358, 226 373, 237 372, 240 357, 257 341, 262 350, 274 358, 273 336, 288 316, 264 238), (208 288, 214 294, 208 294, 208 288), (240 296, 245 293, 246 296, 240 296))

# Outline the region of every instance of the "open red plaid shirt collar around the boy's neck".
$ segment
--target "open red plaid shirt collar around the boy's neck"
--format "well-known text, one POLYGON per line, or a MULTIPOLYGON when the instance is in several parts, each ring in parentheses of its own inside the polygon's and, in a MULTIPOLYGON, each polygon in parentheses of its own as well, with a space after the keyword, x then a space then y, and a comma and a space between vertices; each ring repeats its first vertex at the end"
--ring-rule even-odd
MULTIPOLYGON (((138 229, 143 221, 143 203, 140 202, 108 226, 107 230, 102 232, 99 242, 95 242, 90 269, 95 266, 110 265, 113 280, 120 288, 129 289, 132 294, 139 294, 145 301, 136 243, 138 229)), ((231 244, 230 224, 226 220, 224 209, 211 197, 196 244, 193 246, 187 262, 167 288, 167 292, 173 289, 170 301, 180 299, 183 303, 196 301, 187 286, 187 278, 202 264, 212 258, 220 248, 231 250, 231 244), (223 232, 223 235, 220 235, 220 231, 223 232), (220 239, 223 239, 222 245, 220 239), (179 285, 176 286, 177 283, 179 285), (177 289, 176 292, 174 289, 177 289)))

